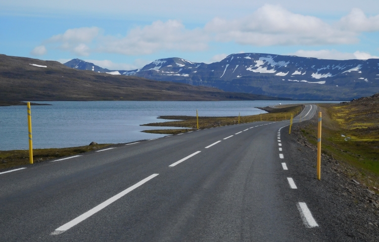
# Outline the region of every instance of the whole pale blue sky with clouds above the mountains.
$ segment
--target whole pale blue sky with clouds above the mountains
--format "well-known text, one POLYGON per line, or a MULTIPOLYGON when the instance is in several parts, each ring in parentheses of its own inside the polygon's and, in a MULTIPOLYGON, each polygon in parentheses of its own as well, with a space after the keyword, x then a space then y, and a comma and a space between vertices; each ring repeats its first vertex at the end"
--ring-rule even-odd
POLYGON ((379 58, 379 1, 0 2, 0 53, 130 70, 255 52, 379 58))

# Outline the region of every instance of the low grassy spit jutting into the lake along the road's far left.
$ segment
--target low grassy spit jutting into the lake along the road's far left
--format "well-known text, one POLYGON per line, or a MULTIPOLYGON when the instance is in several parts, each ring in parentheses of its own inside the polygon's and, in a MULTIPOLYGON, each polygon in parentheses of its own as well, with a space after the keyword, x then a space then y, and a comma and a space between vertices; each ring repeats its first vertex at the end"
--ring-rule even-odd
MULTIPOLYGON (((303 105, 296 105, 286 108, 262 108, 269 113, 258 115, 241 116, 240 123, 251 123, 257 121, 281 121, 289 119, 291 114, 298 114, 301 112, 303 105)), ((163 119, 179 119, 179 121, 161 122, 146 124, 143 126, 156 126, 156 127, 181 127, 188 129, 168 129, 168 130, 144 130, 142 132, 153 134, 179 134, 196 129, 196 116, 160 116, 163 119)), ((236 117, 199 117, 199 129, 208 129, 219 126, 235 125, 238 124, 238 116, 236 117)))

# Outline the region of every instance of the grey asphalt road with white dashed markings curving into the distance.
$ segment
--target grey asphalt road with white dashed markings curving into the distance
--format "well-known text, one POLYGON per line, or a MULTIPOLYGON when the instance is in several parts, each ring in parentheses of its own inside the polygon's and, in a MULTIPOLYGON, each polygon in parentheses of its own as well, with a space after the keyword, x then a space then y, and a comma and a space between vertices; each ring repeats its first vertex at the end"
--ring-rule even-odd
MULTIPOLYGON (((306 105, 302 119, 315 112, 306 105)), ((0 173, 0 241, 325 241, 322 206, 291 177, 288 125, 188 132, 0 173)))

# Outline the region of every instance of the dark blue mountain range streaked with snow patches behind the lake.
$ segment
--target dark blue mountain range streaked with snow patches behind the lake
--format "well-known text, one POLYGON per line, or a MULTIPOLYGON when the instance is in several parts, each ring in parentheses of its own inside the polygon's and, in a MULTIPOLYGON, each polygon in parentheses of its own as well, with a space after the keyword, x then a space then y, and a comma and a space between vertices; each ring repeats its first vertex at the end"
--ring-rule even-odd
POLYGON ((100 70, 101 67, 78 61, 74 59, 65 65, 110 74, 209 86, 229 92, 293 99, 349 100, 379 92, 379 59, 325 60, 244 53, 232 54, 211 64, 181 58, 159 59, 143 68, 129 71, 100 70), (74 63, 77 64, 74 66, 74 63))

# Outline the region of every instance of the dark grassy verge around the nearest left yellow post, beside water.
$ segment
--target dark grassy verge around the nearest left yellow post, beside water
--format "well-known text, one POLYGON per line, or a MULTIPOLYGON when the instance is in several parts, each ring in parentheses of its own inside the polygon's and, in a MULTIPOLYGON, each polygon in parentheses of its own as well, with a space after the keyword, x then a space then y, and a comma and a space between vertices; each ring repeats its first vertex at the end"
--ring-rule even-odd
MULTIPOLYGON (((56 159, 68 155, 76 155, 91 150, 97 150, 111 144, 87 145, 70 148, 33 149, 33 162, 56 159)), ((0 151, 0 169, 29 164, 29 150, 5 150, 0 151)))

